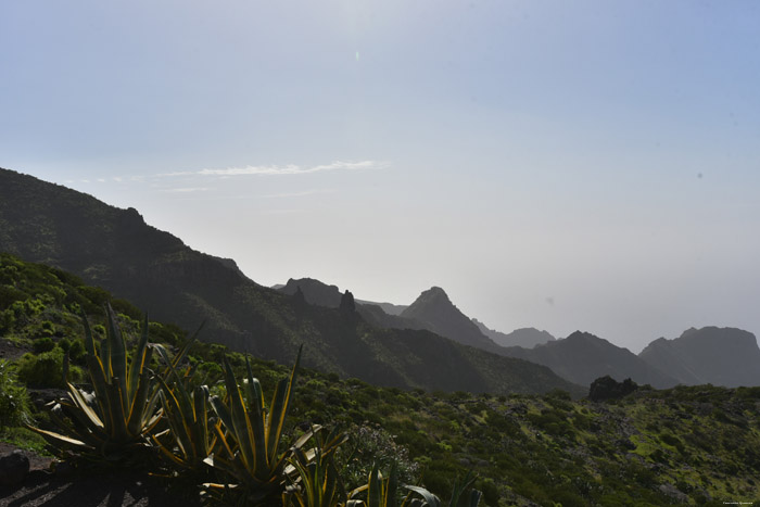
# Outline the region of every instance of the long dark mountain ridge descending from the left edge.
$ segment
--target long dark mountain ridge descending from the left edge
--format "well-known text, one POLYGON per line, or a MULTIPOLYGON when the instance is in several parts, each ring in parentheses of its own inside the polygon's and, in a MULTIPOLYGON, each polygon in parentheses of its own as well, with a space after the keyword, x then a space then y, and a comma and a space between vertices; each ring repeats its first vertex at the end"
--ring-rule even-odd
POLYGON ((72 271, 157 320, 191 330, 205 321, 202 339, 265 359, 292 363, 304 344, 306 366, 379 385, 582 394, 537 365, 305 304, 305 289, 299 297, 262 287, 231 261, 147 225, 134 208, 7 169, 0 169, 0 252, 72 271))

